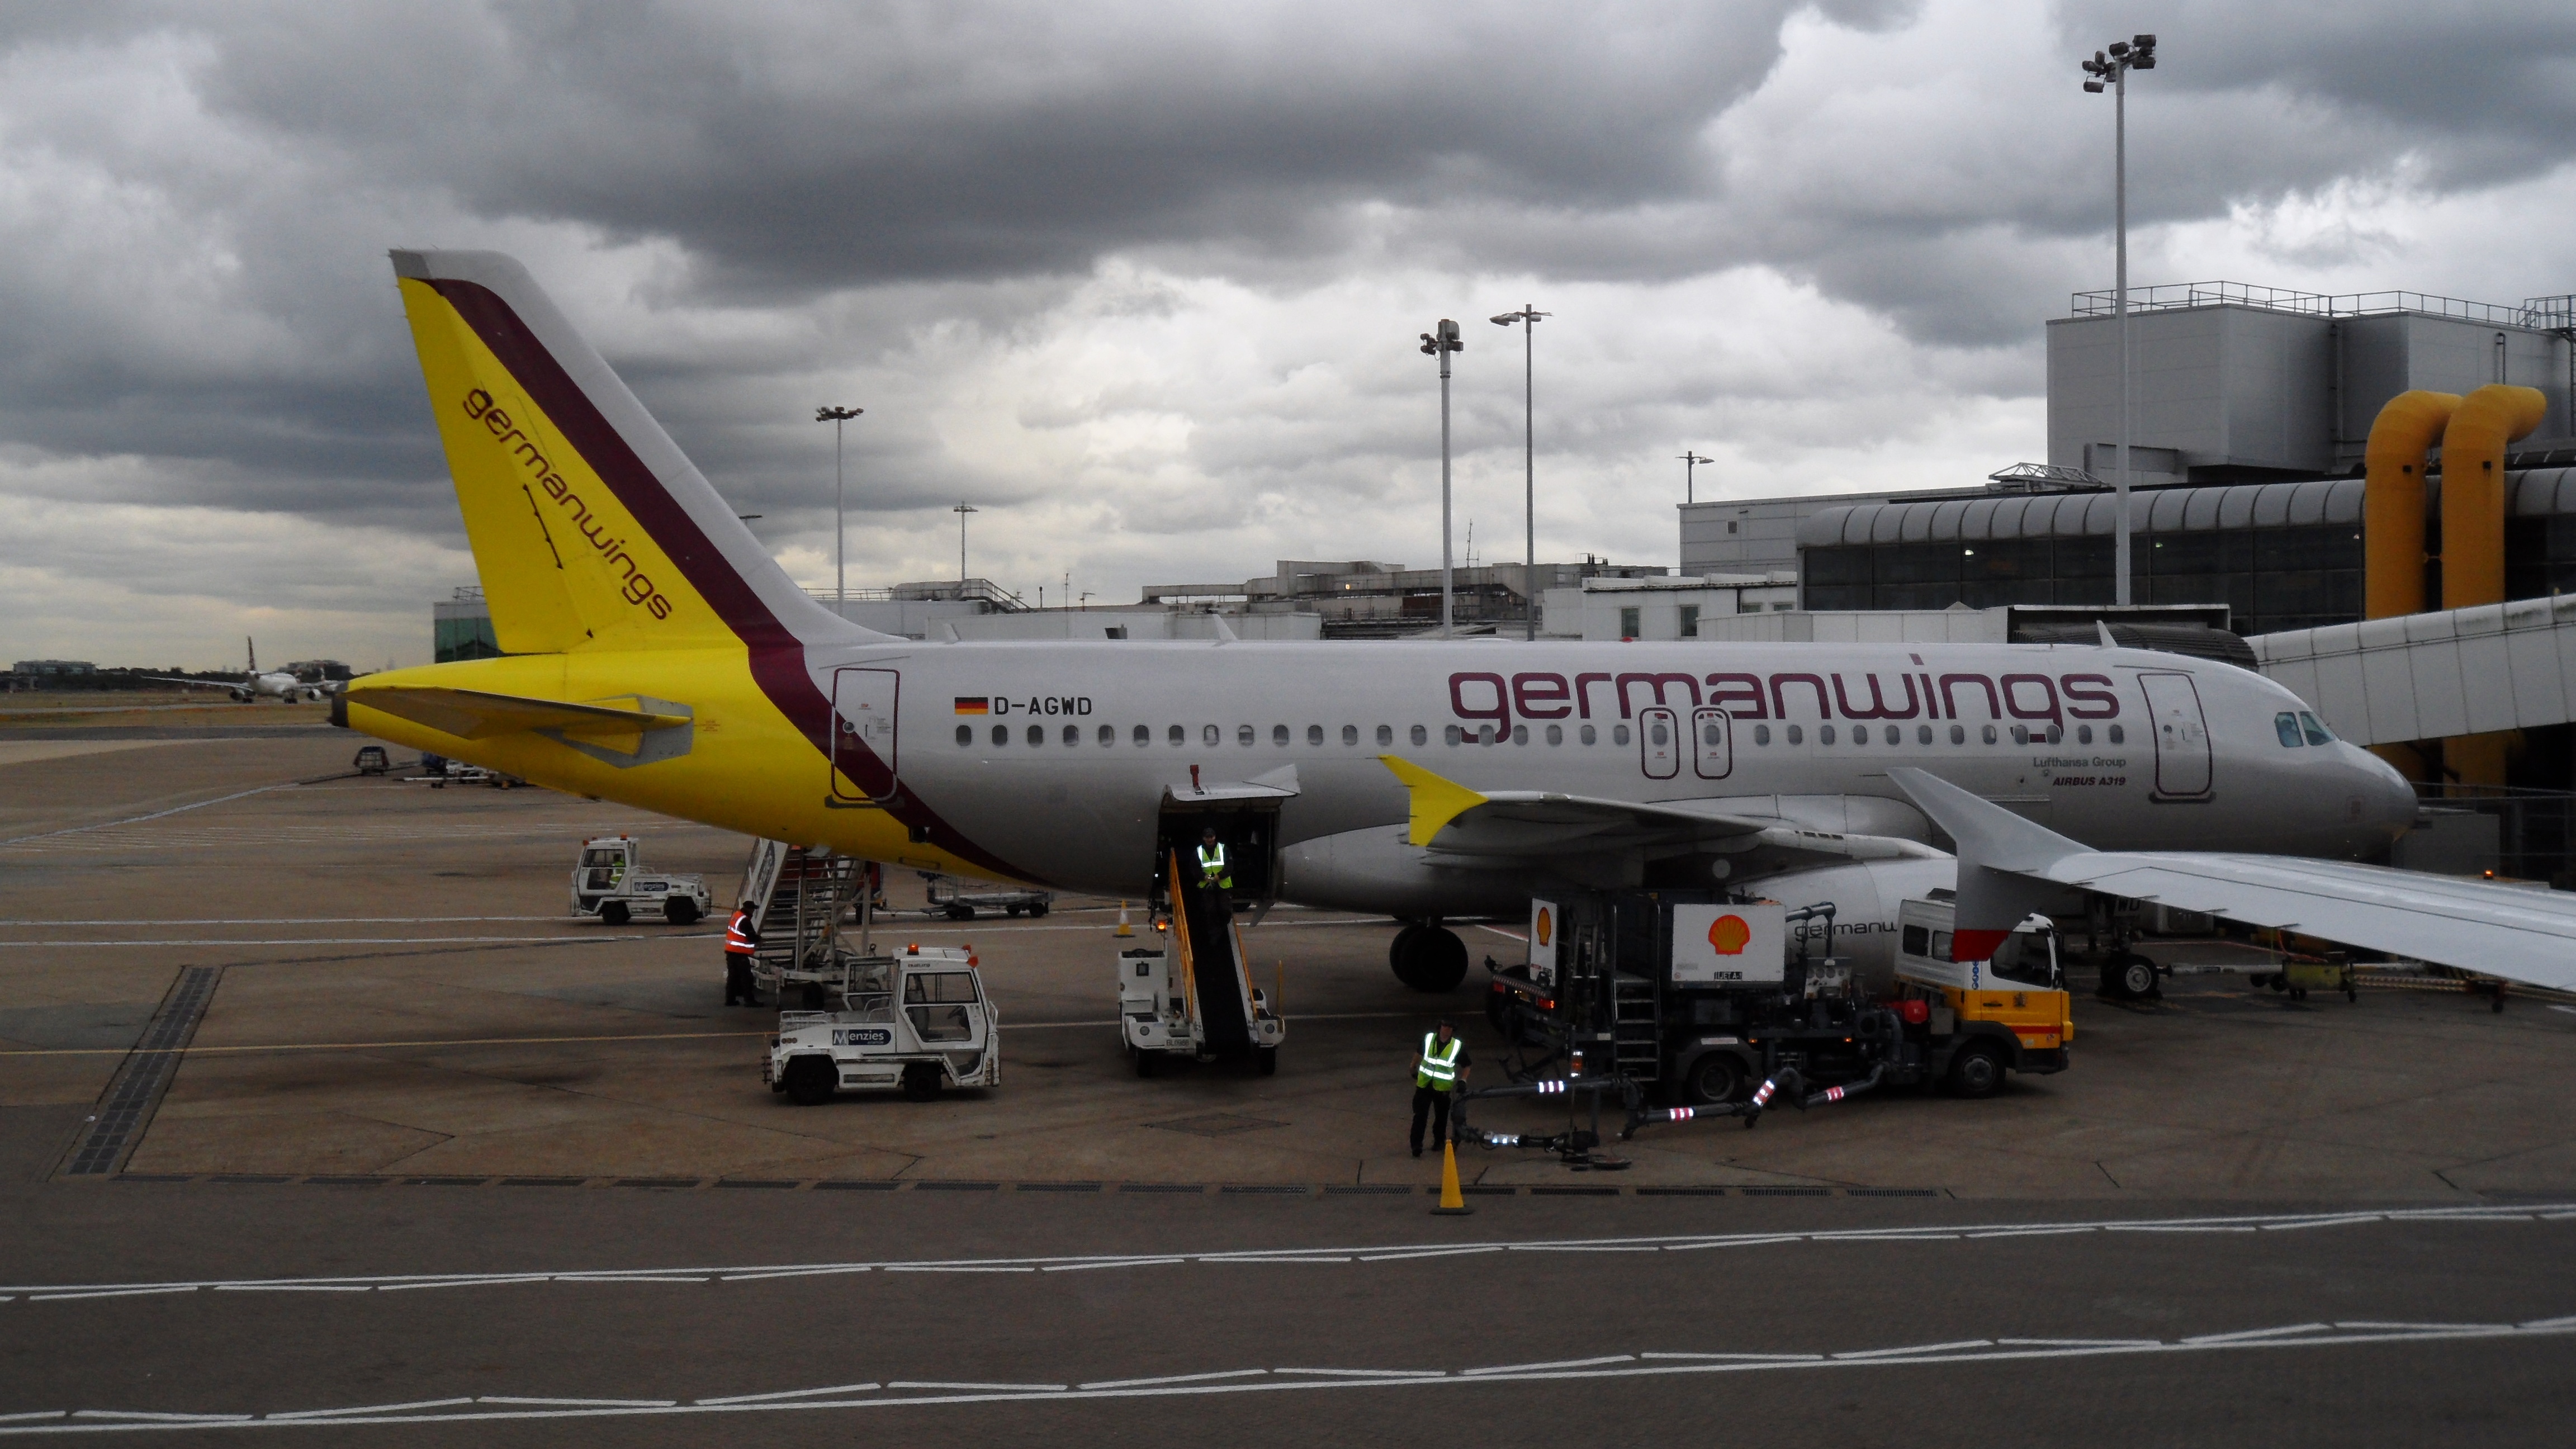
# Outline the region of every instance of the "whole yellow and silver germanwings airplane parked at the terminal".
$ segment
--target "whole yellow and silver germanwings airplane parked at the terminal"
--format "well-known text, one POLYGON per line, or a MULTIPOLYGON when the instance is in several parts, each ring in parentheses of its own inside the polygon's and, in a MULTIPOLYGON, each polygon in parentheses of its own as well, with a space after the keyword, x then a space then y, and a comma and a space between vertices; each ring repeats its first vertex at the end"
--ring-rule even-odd
MULTIPOLYGON (((1834 949, 1862 957, 1888 954, 1899 900, 1958 884, 1960 959, 2035 895, 2117 895, 2081 869, 2094 851, 2218 874, 2303 856, 2318 905, 2298 928, 2357 944, 2329 897, 2403 895, 2380 879, 2403 871, 2344 864, 2416 820, 2391 766, 2257 673, 2107 634, 876 634, 788 580, 520 263, 392 263, 502 657, 353 681, 335 722, 381 740, 757 838, 1110 897, 1149 897, 1221 825, 1242 895, 1409 923, 1388 964, 1419 990, 1466 975, 1448 920, 1517 918, 1551 884, 1834 900, 1834 949), (1973 846, 1965 866, 1942 835, 1973 846)), ((2561 926, 2576 944, 2576 913, 2561 926)), ((2491 969, 2460 959, 2476 933, 2414 936, 2421 959, 2491 969)))

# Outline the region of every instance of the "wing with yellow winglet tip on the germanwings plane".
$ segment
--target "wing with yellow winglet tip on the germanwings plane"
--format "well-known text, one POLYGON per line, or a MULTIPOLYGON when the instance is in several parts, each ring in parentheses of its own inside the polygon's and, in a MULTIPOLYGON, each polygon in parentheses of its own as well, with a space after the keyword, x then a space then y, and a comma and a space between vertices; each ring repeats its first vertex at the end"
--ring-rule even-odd
POLYGON ((1940 856, 1888 835, 1806 830, 1762 815, 1734 815, 1726 802, 1636 802, 1538 789, 1476 792, 1412 761, 1378 755, 1412 794, 1406 841, 1443 864, 1535 866, 1577 856, 1718 851, 1741 856, 1739 874, 1767 874, 1819 861, 1940 856))

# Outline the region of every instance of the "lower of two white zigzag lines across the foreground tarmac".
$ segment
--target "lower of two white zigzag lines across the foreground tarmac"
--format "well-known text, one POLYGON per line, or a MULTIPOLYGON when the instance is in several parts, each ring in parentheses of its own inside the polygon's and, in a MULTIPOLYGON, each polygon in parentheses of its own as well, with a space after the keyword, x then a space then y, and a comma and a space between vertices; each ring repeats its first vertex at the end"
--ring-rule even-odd
MULTIPOLYGON (((2262 1333, 2262 1330, 2257 1330, 2262 1333)), ((1492 1369, 1242 1369, 1216 1374, 1182 1374, 1164 1382, 1131 1382, 1126 1387, 1072 1387, 1072 1385, 987 1385, 940 1379, 894 1379, 886 1390, 909 1390, 914 1397, 827 1397, 835 1392, 860 1392, 817 1387, 806 1395, 755 1395, 734 1400, 572 1400, 572 1397, 520 1397, 479 1395, 469 1405, 456 1400, 422 1400, 420 1408, 464 1408, 466 1413, 422 1413, 412 1405, 384 1405, 384 1410, 281 1410, 268 1418, 245 1413, 162 1413, 162 1410, 41 1410, 41 1421, 23 1415, 0 1421, 0 1436, 21 1439, 36 1434, 100 1434, 100 1431, 167 1431, 167 1428, 296 1428, 309 1423, 497 1423, 497 1421, 551 1421, 551 1418, 644 1418, 644 1415, 706 1415, 706 1413, 814 1413, 848 1408, 940 1408, 989 1403, 1072 1403, 1072 1400, 1128 1400, 1128 1397, 1216 1397, 1242 1392, 1316 1392, 1316 1390, 1399 1390, 1399 1387, 1463 1387, 1463 1385, 1525 1385, 1525 1382, 1584 1382, 1584 1379, 1672 1379, 1705 1374, 1777 1374, 1777 1372, 1834 1372, 1834 1369, 1914 1369, 1924 1364, 2027 1364, 2063 1359, 2115 1359, 2143 1354, 2215 1354, 2249 1348, 2349 1348, 2375 1343, 2445 1343, 2445 1341, 2496 1341, 2496 1338, 2558 1338, 2576 1333, 2576 1315, 2535 1320, 2506 1330, 2470 1328, 2409 1328, 2378 1333, 2336 1333, 2326 1325, 2290 1325, 2262 1338, 2226 1336, 2223 1341, 2099 1341, 2099 1343, 2030 1343, 2004 1346, 1999 1341, 1924 1343, 1914 1348, 1857 1348, 1832 1356, 1682 1356, 1682 1354, 1618 1354, 1607 1361, 1577 1361, 1584 1366, 1492 1366, 1492 1369), (2324 1333, 2318 1333, 2324 1328, 2324 1333), (935 1397, 925 1397, 935 1395, 935 1397), (495 1408, 484 1408, 495 1405, 495 1408)), ((876 1392, 876 1390, 866 1390, 876 1392)))

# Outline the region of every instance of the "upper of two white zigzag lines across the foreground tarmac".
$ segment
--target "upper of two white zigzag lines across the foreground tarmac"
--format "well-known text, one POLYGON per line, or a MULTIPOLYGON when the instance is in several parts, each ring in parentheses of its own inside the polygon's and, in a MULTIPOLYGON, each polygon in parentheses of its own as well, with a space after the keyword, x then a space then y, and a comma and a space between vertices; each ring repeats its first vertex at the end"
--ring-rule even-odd
MULTIPOLYGON (((2481 1212, 2481 1209, 2427 1209, 2406 1212, 2391 1209, 2367 1222, 2532 1222, 2527 1212, 2481 1212)), ((2169 1227, 2174 1220, 2107 1220, 2084 1225, 2094 1232, 2151 1232, 2169 1227)), ((2241 1220, 2236 1220, 2241 1222, 2241 1220)), ((1927 1232, 1942 1232, 1927 1227, 1927 1232)), ((1955 1238, 1958 1232, 1945 1232, 1955 1238)), ((0 1284, 0 1294, 31 1294, 28 1302, 52 1302, 70 1297, 139 1297, 139 1294, 173 1294, 173 1292, 198 1292, 198 1289, 260 1289, 260 1287, 307 1287, 307 1284, 368 1284, 379 1292, 412 1289, 412 1287, 484 1287, 484 1284, 544 1284, 544 1281, 706 1281, 708 1276, 786 1276, 786 1274, 824 1274, 824 1271, 886 1271, 886 1274, 969 1274, 969 1271, 1015 1271, 1033 1274, 1051 1266, 1136 1266, 1136 1263, 1260 1263, 1260 1261, 1288 1261, 1288 1258, 1324 1258, 1332 1253, 1352 1256, 1360 1263, 1391 1263, 1412 1258, 1453 1258, 1471 1253, 1504 1253, 1504 1250, 1569 1250, 1569 1248, 1628 1248, 1651 1245, 1662 1250, 1695 1250, 1695 1248, 1752 1248, 1772 1243, 1888 1243, 1886 1230, 1814 1230, 1814 1232, 1741 1232, 1741 1235, 1708 1235, 1708 1232, 1667 1232, 1649 1238, 1569 1238, 1569 1240, 1504 1240, 1504 1243, 1386 1243, 1386 1245, 1352 1245, 1352 1248, 1278 1248, 1278 1250, 1211 1250, 1211 1253, 1097 1253, 1097 1256, 1048 1256, 1048 1258, 914 1258, 891 1263, 734 1263, 734 1266, 654 1266, 654 1269, 564 1269, 564 1271, 520 1271, 520 1274, 353 1274, 353 1276, 301 1276, 301 1279, 191 1279, 191 1281, 165 1281, 165 1284, 0 1284)), ((2576 1323, 2576 1320, 2571 1320, 2576 1323)))

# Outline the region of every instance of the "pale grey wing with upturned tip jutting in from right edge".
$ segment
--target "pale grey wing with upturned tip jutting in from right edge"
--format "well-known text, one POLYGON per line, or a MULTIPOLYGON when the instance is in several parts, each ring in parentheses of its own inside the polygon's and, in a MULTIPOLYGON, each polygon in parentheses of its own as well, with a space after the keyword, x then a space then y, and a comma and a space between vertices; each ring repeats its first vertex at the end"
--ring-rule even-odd
POLYGON ((1940 776, 1917 768, 1888 776, 1960 846, 1963 941, 1971 920, 1976 931, 2009 931, 2004 915, 2030 905, 2025 892, 1994 879, 2009 877, 2576 990, 2576 895, 2568 892, 2298 856, 2092 851, 1940 776))

